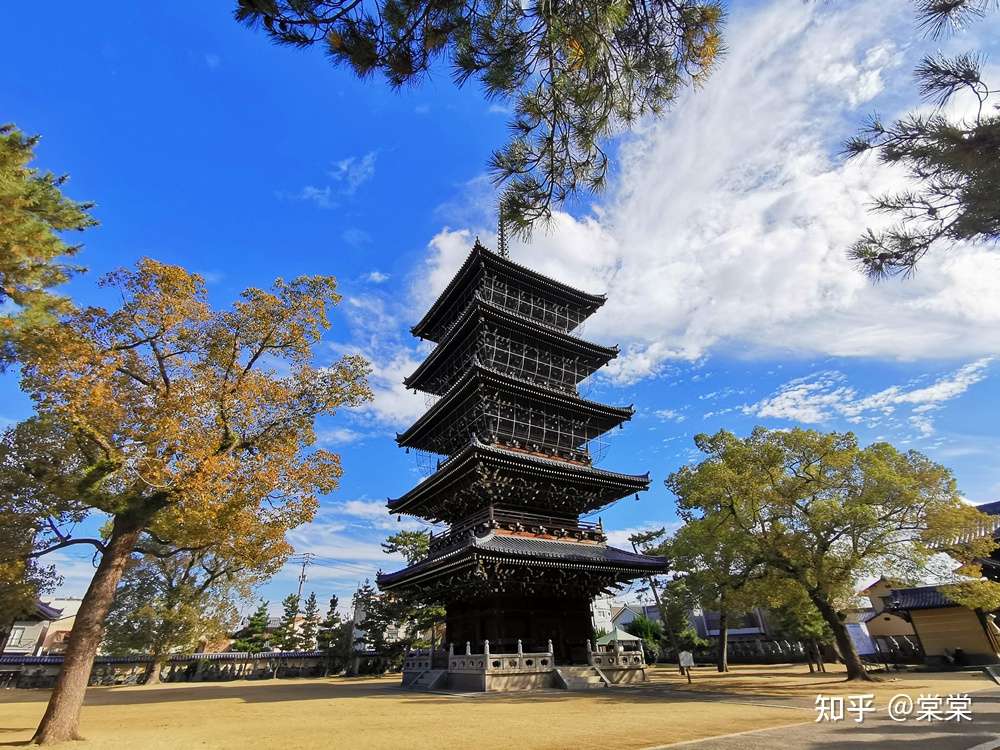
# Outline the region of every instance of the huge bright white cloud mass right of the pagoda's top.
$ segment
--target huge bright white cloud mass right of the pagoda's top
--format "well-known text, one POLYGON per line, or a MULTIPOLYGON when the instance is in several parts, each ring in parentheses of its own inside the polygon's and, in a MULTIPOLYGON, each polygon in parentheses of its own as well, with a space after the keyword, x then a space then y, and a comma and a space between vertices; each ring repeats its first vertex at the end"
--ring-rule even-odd
MULTIPOLYGON (((718 70, 622 144, 602 205, 557 213, 512 256, 608 294, 586 334, 622 345, 607 368, 620 382, 718 349, 910 360, 1000 351, 994 249, 938 252, 915 278, 880 285, 846 256, 881 221, 871 196, 904 179, 836 154, 868 111, 918 101, 911 68, 924 50, 913 38, 904 0, 738 9, 718 70)), ((424 300, 476 231, 492 237, 492 222, 483 212, 432 239, 416 285, 424 300)))

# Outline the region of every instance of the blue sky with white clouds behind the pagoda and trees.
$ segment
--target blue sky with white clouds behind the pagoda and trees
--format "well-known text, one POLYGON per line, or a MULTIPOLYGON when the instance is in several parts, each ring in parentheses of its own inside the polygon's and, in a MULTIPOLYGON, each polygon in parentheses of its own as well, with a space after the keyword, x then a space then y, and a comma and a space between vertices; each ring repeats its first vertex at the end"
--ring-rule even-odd
MULTIPOLYGON (((98 204, 80 255, 90 271, 68 287, 77 300, 100 301, 99 275, 141 256, 203 273, 219 305, 279 275, 339 279, 322 356, 367 355, 377 398, 320 426, 345 476, 290 538, 343 561, 312 569, 306 590, 348 599, 399 564, 378 542, 400 528, 385 498, 420 477, 392 439, 425 408, 399 385, 427 351, 408 328, 473 238, 494 242, 485 164, 507 112, 443 68, 402 92, 359 82, 237 26, 226 3, 5 17, 3 118, 42 134, 39 165, 98 204)), ((1000 497, 1000 254, 956 248, 873 287, 844 251, 874 224, 868 195, 904 178, 836 156, 869 112, 915 102, 922 54, 995 60, 998 31, 994 14, 927 42, 904 0, 741 3, 704 89, 614 144, 608 191, 513 245, 515 259, 609 295, 586 336, 623 356, 590 397, 637 415, 602 465, 653 477, 602 514, 613 539, 675 520, 664 477, 697 458, 694 434, 723 427, 853 429, 950 466, 972 501, 1000 497)), ((16 378, 0 379, 0 420, 29 411, 16 378)), ((62 593, 82 594, 89 559, 56 560, 62 593)), ((295 573, 264 587, 273 606, 295 573)))

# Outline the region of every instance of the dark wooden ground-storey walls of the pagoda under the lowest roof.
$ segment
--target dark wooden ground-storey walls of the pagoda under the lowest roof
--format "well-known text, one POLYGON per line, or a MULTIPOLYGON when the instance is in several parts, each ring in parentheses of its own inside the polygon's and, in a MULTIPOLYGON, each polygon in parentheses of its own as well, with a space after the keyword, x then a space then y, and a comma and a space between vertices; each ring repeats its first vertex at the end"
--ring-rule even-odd
POLYGON ((452 599, 445 609, 444 642, 456 653, 484 641, 494 653, 542 653, 551 643, 556 664, 587 663, 587 643, 594 638, 588 597, 498 594, 452 599))

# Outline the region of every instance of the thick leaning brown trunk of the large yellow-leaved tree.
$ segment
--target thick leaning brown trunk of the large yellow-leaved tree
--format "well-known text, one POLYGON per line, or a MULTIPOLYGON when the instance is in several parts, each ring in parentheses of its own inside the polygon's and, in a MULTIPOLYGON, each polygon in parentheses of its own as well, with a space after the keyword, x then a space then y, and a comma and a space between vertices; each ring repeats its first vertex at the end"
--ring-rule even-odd
POLYGON ((115 516, 107 549, 80 602, 66 644, 62 670, 33 738, 39 745, 82 739, 79 733, 80 708, 104 634, 104 618, 111 608, 115 588, 143 526, 135 519, 115 516))

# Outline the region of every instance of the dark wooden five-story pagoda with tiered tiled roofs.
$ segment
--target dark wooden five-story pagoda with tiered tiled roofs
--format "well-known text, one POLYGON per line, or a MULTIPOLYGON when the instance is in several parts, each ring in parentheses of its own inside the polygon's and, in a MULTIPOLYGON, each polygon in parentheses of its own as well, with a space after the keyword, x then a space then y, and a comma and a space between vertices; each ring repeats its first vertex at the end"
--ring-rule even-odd
POLYGON ((397 442, 443 460, 388 507, 450 529, 378 583, 444 603, 457 648, 488 641, 494 653, 551 649, 556 664, 586 663, 592 598, 665 569, 579 520, 649 485, 648 474, 592 465, 592 441, 633 413, 577 390, 618 353, 573 335, 604 301, 477 240, 412 329, 437 346, 404 383, 438 399, 397 442))

